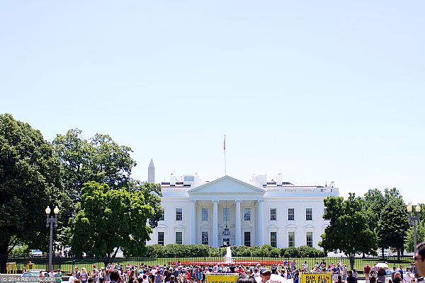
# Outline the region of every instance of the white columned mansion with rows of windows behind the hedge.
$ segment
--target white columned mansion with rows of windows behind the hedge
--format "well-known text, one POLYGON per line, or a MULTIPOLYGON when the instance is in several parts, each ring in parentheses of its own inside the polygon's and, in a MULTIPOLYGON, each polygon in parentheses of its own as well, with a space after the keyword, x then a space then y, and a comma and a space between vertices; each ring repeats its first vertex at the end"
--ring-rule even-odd
POLYGON ((162 183, 164 220, 159 221, 147 245, 161 243, 209 246, 262 246, 278 248, 317 243, 329 221, 322 218, 325 197, 339 196, 331 186, 297 186, 281 176, 267 182, 266 175, 244 183, 228 175, 200 182, 197 175, 183 181, 171 176, 162 183), (227 221, 226 221, 227 220, 227 221), (229 236, 223 235, 226 225, 229 236))

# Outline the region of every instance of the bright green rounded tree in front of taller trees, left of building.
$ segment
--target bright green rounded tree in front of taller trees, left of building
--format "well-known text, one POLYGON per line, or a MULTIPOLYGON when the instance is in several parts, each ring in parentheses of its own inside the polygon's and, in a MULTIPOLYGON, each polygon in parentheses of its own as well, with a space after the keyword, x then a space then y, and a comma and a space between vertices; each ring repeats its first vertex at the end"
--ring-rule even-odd
POLYGON ((145 241, 152 233, 147 219, 153 213, 142 192, 86 183, 72 218, 72 250, 101 258, 115 257, 119 248, 126 256, 145 255, 145 241))

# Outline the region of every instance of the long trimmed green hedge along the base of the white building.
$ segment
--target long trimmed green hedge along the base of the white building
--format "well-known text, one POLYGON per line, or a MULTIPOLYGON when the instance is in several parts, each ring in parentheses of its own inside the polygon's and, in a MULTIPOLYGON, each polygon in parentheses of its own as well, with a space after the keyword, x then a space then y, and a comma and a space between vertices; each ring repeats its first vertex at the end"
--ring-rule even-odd
MULTIPOLYGON (((224 257, 226 248, 212 248, 205 245, 178 245, 170 244, 166 246, 147 246, 147 256, 151 258, 196 258, 196 257, 224 257)), ((285 257, 285 258, 322 258, 326 255, 322 250, 309 246, 299 248, 273 248, 270 245, 264 246, 233 246, 233 257, 285 257)))

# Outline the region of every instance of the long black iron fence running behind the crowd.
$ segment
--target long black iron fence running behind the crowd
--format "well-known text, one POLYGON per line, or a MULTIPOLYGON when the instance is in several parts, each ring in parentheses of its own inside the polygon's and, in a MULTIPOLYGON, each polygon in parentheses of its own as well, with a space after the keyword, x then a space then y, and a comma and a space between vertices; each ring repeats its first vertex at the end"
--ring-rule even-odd
MULTIPOLYGON (((346 257, 339 258, 271 258, 266 256, 258 257, 234 257, 232 258, 232 264, 234 265, 245 265, 251 266, 259 263, 260 265, 270 266, 273 264, 282 264, 283 262, 293 262, 295 260, 297 268, 302 266, 303 262, 307 262, 309 270, 316 264, 320 264, 323 260, 330 265, 331 263, 336 264, 342 262, 350 268, 350 260, 346 257)), ((87 271, 93 270, 94 266, 99 269, 100 267, 106 266, 108 262, 120 263, 120 265, 127 265, 130 263, 132 266, 139 267, 141 264, 148 266, 156 265, 175 265, 176 262, 180 262, 181 265, 215 265, 220 263, 222 265, 228 265, 229 262, 225 262, 223 257, 198 257, 198 258, 52 258, 52 268, 57 270, 60 268, 64 274, 70 274, 74 267, 85 267, 87 271)), ((389 267, 403 265, 404 268, 412 263, 411 256, 391 256, 386 258, 376 257, 358 257, 354 259, 354 268, 359 273, 363 272, 363 267, 366 263, 373 267, 377 262, 387 262, 389 267)), ((47 270, 48 258, 42 257, 28 257, 28 255, 0 255, 0 267, 1 273, 21 273, 23 270, 47 270)))

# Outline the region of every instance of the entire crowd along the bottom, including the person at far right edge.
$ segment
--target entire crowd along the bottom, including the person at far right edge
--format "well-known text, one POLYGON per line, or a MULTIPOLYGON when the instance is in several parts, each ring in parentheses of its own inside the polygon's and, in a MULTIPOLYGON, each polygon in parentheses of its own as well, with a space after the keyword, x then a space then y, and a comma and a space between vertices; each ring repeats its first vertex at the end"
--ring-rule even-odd
MULTIPOLYGON (((425 242, 417 246, 414 255, 416 265, 410 265, 403 270, 403 265, 399 268, 392 267, 391 278, 385 267, 377 264, 371 267, 366 264, 363 273, 365 283, 414 283, 415 273, 420 276, 425 275, 425 242), (417 272, 414 272, 414 268, 417 272)), ((307 261, 297 266, 295 259, 285 260, 281 264, 272 265, 270 269, 265 265, 234 265, 234 264, 203 264, 203 265, 183 265, 176 262, 170 265, 149 266, 146 264, 131 265, 130 262, 123 266, 120 263, 109 263, 105 267, 97 268, 93 265, 91 270, 82 267, 74 267, 72 276, 68 283, 205 283, 209 273, 229 273, 239 274, 237 283, 280 283, 283 279, 292 279, 293 283, 300 283, 300 272, 331 272, 334 283, 357 283, 357 270, 348 270, 347 266, 340 262, 327 264, 325 260, 316 262, 309 267, 307 261), (271 280, 271 277, 274 277, 271 280), (280 278, 280 279, 276 279, 280 278)), ((41 272, 40 272, 41 275, 41 272)), ((50 270, 50 277, 57 277, 57 282, 62 281, 62 272, 50 270)))

